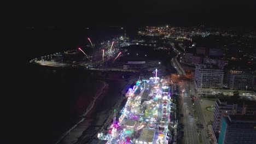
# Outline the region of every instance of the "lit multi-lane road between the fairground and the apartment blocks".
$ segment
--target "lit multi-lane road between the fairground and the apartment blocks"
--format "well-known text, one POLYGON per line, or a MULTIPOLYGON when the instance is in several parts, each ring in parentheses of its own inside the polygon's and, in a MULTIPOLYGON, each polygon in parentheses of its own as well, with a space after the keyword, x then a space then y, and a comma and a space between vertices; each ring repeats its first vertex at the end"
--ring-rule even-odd
MULTIPOLYGON (((179 45, 180 46, 180 45, 179 45)), ((184 69, 181 67, 179 62, 177 61, 177 57, 174 57, 171 60, 171 63, 173 67, 177 70, 178 74, 180 75, 186 75, 184 69)), ((207 136, 207 125, 205 123, 205 119, 203 117, 203 113, 201 110, 201 105, 199 98, 195 99, 194 105, 190 99, 190 95, 195 95, 197 97, 197 93, 195 92, 195 86, 194 83, 191 81, 182 81, 179 82, 178 85, 180 86, 181 92, 181 112, 184 114, 183 118, 183 124, 184 124, 184 142, 185 143, 210 143, 208 136, 207 136), (194 115, 193 112, 193 106, 194 110, 196 112, 196 117, 189 116, 189 113, 191 115, 194 115), (196 128, 196 121, 199 124, 203 124, 204 129, 201 130, 201 139, 202 141, 199 141, 198 137, 200 137, 197 134, 197 128, 196 128)))

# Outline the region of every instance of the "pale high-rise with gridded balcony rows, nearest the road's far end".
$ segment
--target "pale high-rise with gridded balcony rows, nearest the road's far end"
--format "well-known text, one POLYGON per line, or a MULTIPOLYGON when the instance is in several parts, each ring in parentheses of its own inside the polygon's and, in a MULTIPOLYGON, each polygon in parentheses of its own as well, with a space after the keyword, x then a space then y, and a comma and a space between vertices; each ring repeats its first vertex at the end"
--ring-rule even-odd
POLYGON ((195 81, 198 88, 223 87, 224 71, 211 64, 196 64, 195 81))

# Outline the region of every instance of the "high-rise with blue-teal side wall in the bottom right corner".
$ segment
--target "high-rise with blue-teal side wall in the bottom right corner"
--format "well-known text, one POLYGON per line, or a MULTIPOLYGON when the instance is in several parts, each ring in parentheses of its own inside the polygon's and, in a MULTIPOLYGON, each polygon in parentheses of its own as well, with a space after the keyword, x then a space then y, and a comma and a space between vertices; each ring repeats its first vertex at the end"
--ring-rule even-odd
POLYGON ((256 143, 256 117, 239 115, 223 117, 218 143, 256 143))

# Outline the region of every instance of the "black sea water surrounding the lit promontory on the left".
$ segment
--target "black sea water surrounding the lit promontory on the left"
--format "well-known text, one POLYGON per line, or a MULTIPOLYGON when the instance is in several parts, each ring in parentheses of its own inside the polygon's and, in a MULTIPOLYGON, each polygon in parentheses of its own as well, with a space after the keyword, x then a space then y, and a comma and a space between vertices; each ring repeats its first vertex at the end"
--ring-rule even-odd
POLYGON ((15 31, 8 41, 15 47, 10 49, 14 55, 6 58, 11 64, 3 66, 7 143, 56 142, 77 123, 98 86, 95 76, 83 70, 35 67, 28 64, 30 59, 87 45, 88 37, 100 43, 123 32, 120 27, 24 27, 15 31))

